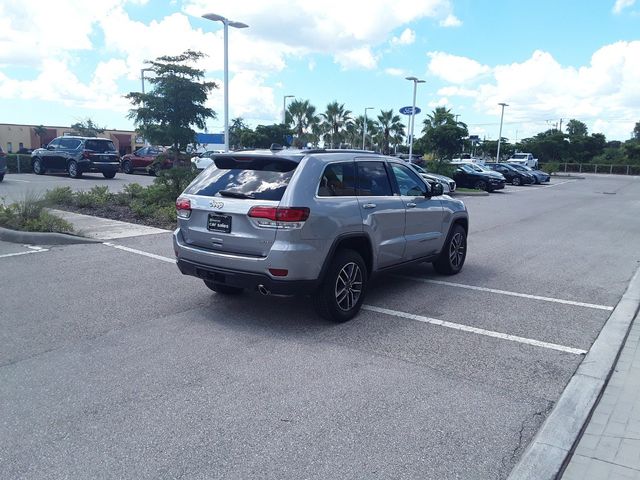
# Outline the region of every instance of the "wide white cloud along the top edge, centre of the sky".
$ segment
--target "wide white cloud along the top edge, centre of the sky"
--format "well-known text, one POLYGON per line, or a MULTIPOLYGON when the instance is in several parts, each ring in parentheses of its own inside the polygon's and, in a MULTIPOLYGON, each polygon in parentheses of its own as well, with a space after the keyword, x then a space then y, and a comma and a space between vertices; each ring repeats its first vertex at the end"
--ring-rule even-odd
MULTIPOLYGON (((210 0, 189 0, 185 6, 193 16, 210 10, 210 0)), ((247 23, 253 40, 286 46, 298 54, 333 55, 345 67, 343 59, 353 52, 387 42, 394 30, 409 22, 422 18, 446 20, 452 7, 450 0, 221 0, 216 2, 215 12, 247 23)), ((410 34, 404 35, 408 41, 410 34)), ((369 55, 359 64, 371 68, 372 60, 373 55, 369 55)))

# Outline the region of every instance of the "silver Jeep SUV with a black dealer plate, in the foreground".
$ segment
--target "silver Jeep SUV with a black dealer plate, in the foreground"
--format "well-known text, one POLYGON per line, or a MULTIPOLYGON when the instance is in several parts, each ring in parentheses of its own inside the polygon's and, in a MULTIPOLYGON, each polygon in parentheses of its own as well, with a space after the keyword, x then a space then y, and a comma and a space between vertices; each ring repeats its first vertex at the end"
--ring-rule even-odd
POLYGON ((462 269, 469 219, 406 162, 367 151, 219 154, 176 200, 180 271, 223 294, 311 295, 319 313, 358 313, 373 274, 433 262, 462 269))

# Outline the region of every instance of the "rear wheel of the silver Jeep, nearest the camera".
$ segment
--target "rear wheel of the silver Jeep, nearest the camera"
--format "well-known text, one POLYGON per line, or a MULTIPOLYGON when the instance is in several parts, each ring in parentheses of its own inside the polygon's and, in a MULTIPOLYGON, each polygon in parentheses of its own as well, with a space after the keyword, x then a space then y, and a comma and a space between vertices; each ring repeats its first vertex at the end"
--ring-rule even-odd
POLYGON ((346 322, 362 307, 367 288, 367 266, 354 250, 339 250, 313 300, 318 314, 333 322, 346 322))

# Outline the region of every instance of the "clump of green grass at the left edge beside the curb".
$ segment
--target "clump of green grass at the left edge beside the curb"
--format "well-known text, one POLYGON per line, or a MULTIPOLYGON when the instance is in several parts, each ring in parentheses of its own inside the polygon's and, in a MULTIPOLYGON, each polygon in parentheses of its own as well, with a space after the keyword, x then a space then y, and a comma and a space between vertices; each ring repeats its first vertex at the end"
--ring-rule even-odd
POLYGON ((73 232, 69 222, 45 210, 42 197, 31 194, 10 205, 0 203, 0 226, 25 232, 73 232))

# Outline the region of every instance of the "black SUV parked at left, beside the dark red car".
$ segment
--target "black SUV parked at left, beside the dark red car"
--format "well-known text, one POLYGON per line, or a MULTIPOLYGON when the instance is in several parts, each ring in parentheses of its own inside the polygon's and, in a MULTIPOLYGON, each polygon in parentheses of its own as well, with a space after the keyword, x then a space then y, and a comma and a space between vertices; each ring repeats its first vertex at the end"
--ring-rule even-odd
POLYGON ((42 175, 48 170, 66 171, 71 178, 85 172, 100 172, 113 178, 120 168, 116 146, 108 138, 58 137, 31 154, 33 173, 42 175))

